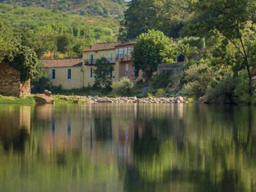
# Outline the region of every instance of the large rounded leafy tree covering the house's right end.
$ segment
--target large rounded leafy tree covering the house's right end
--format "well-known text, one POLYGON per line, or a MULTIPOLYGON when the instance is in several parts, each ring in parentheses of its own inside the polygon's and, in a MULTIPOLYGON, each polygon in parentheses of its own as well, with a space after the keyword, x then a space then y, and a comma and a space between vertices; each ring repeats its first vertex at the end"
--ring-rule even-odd
POLYGON ((171 40, 161 31, 148 30, 148 33, 142 33, 137 38, 132 52, 134 76, 138 77, 139 71, 142 70, 148 78, 151 78, 162 62, 161 51, 170 44, 171 40))

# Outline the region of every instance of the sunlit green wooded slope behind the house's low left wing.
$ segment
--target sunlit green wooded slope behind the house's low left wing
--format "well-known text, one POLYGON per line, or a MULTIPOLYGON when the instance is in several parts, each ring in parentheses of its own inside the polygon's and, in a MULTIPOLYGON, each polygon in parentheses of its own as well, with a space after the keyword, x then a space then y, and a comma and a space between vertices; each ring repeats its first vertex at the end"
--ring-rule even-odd
POLYGON ((6 34, 14 33, 23 46, 34 49, 38 58, 53 58, 56 40, 61 57, 81 57, 82 49, 96 41, 114 41, 118 28, 118 20, 109 17, 8 4, 0 4, 0 22, 5 26, 9 23, 6 34))

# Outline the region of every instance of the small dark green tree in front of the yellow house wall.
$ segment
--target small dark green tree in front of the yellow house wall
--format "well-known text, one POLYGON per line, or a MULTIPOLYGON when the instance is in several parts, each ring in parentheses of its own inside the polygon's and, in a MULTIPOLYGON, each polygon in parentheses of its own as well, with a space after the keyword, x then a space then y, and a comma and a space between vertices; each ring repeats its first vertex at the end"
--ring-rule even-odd
POLYGON ((112 85, 112 72, 114 70, 113 65, 109 64, 109 61, 103 57, 96 60, 96 69, 93 70, 95 78, 95 86, 105 86, 110 89, 112 85))

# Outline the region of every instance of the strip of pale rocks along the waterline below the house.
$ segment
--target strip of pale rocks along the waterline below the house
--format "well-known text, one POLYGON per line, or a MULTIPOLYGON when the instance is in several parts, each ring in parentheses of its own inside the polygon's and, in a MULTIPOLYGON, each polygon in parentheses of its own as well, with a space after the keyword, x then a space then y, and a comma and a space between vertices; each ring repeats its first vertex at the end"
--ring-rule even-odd
POLYGON ((62 96, 58 95, 58 99, 65 101, 74 101, 75 103, 88 103, 88 104, 98 104, 98 103, 155 103, 155 104, 182 104, 188 103, 187 98, 182 96, 172 97, 172 98, 137 98, 137 97, 119 97, 119 98, 109 98, 109 97, 99 97, 99 96, 62 96))

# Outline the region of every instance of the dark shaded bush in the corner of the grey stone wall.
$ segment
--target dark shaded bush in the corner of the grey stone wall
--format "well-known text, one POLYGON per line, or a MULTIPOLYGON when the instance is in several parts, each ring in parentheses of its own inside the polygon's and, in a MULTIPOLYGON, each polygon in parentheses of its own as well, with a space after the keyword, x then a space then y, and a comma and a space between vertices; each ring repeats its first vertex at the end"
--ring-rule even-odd
POLYGON ((171 84, 173 78, 169 73, 157 73, 153 76, 152 80, 150 81, 151 86, 153 88, 166 88, 169 84, 171 84))

